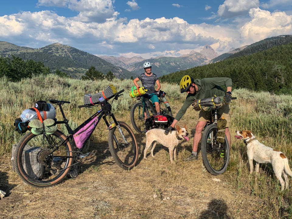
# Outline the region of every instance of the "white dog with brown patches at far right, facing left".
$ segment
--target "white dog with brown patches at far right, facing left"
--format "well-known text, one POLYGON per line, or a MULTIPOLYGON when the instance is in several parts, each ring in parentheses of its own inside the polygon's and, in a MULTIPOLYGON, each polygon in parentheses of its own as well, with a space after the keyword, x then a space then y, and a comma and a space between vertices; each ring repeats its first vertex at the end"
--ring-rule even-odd
POLYGON ((286 189, 288 188, 287 174, 292 177, 292 172, 288 164, 288 159, 281 151, 261 144, 258 140, 255 139, 255 136, 249 130, 236 131, 235 137, 244 140, 244 143, 246 144, 250 173, 253 171, 252 160, 255 160, 256 162, 256 172, 259 172, 260 163, 271 163, 275 175, 281 183, 281 190, 283 191, 285 186, 285 183, 282 179, 282 174, 285 178, 286 189))

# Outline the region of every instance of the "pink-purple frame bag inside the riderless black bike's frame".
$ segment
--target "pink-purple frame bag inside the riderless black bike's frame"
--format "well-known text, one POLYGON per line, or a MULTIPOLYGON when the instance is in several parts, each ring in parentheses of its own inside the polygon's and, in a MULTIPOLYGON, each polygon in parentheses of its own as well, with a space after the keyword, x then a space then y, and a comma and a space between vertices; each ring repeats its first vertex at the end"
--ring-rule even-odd
POLYGON ((87 120, 75 134, 73 134, 73 139, 75 141, 77 148, 82 148, 84 142, 89 138, 89 136, 94 131, 96 125, 98 123, 98 116, 94 117, 92 120, 87 120))

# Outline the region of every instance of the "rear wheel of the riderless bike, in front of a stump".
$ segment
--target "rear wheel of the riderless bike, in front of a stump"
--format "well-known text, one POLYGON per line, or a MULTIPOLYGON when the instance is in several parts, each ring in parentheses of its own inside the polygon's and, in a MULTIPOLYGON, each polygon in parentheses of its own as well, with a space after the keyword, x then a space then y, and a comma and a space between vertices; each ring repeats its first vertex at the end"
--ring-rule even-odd
POLYGON ((16 145, 14 166, 20 178, 34 187, 53 186, 67 175, 72 147, 59 130, 53 134, 27 133, 16 145))

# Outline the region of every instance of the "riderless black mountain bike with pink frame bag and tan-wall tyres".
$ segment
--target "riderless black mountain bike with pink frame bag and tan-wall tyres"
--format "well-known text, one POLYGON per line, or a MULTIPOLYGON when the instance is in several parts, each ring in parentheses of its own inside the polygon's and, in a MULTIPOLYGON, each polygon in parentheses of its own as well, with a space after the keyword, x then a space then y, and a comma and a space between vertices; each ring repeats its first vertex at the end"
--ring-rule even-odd
MULTIPOLYGON (((114 97, 117 100, 123 91, 117 92, 111 98, 114 97)), ((75 130, 69 126, 69 120, 62 109, 64 103, 70 102, 51 99, 51 103, 60 107, 64 119, 56 121, 56 124, 65 124, 69 134, 66 136, 60 130, 53 134, 46 134, 44 131, 39 135, 33 134, 31 131, 25 134, 16 145, 13 160, 16 172, 21 179, 34 187, 47 187, 61 182, 68 174, 77 177, 78 169, 77 173, 71 173, 71 168, 74 170, 75 165, 81 162, 82 158, 95 155, 96 150, 85 154, 82 153, 82 150, 101 118, 109 130, 109 151, 116 164, 123 169, 133 168, 138 159, 136 138, 126 123, 116 120, 114 114, 111 113, 111 104, 108 103, 108 99, 92 106, 78 106, 79 108, 101 106, 101 109, 75 130), (91 129, 90 132, 88 132, 89 129, 91 129), (78 144, 77 137, 83 140, 81 145, 78 144)))

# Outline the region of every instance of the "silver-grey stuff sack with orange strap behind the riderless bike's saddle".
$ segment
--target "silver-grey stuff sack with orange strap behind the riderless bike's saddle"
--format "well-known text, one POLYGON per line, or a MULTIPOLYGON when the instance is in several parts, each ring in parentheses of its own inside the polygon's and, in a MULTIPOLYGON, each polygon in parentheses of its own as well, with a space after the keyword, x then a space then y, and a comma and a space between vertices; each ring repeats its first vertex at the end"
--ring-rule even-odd
MULTIPOLYGON (((56 118, 55 107, 50 103, 47 103, 46 105, 47 105, 46 109, 48 109, 48 110, 42 110, 41 111, 40 109, 38 109, 39 105, 37 105, 35 108, 40 111, 40 115, 41 115, 43 120, 45 120, 45 119, 55 119, 56 118)), ((21 118, 21 120, 23 122, 29 122, 31 120, 38 119, 36 110, 33 109, 33 108, 23 110, 23 112, 20 115, 20 118, 21 118)))

